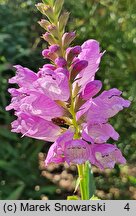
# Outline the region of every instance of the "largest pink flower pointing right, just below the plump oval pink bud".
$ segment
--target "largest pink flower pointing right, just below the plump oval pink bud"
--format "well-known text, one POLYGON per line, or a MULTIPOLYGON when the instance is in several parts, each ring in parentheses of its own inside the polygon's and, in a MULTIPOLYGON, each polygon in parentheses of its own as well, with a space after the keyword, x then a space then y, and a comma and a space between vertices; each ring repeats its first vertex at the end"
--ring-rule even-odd
POLYGON ((114 88, 102 92, 96 98, 91 98, 77 112, 77 119, 82 117, 88 123, 107 122, 109 118, 123 110, 124 107, 130 106, 130 101, 124 100, 121 94, 121 91, 114 88))

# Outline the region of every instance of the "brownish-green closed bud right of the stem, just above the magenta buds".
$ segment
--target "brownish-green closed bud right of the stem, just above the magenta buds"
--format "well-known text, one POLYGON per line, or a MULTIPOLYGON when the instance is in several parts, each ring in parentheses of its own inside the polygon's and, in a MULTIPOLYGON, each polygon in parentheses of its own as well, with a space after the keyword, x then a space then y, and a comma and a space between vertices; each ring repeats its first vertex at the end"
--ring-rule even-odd
POLYGON ((62 37, 63 46, 65 48, 68 47, 71 44, 71 42, 75 39, 75 37, 76 37, 75 32, 67 32, 67 33, 65 33, 63 35, 63 37, 62 37))

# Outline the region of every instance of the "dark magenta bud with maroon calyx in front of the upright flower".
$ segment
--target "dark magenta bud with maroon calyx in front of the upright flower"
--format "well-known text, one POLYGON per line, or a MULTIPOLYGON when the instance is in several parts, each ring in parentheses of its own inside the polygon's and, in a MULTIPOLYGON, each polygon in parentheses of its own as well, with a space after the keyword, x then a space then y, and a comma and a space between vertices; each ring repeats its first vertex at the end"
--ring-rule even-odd
POLYGON ((87 66, 88 66, 88 61, 86 60, 76 61, 76 63, 74 63, 72 66, 70 80, 74 81, 74 79, 79 74, 79 72, 85 69, 87 66))

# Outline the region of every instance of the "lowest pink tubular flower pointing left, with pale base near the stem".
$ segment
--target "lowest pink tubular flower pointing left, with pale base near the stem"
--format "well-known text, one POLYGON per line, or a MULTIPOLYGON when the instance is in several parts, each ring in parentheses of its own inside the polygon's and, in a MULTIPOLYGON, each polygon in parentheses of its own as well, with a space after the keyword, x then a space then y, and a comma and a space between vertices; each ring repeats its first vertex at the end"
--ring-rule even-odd
POLYGON ((22 133, 23 136, 54 142, 62 130, 52 122, 23 112, 17 114, 18 119, 12 122, 12 132, 22 133))

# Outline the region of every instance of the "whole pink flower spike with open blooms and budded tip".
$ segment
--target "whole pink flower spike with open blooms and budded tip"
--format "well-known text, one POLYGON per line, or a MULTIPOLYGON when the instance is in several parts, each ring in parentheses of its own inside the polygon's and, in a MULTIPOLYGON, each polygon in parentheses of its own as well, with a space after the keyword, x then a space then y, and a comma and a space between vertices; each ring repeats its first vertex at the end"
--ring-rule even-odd
POLYGON ((98 95, 102 83, 95 80, 95 74, 104 54, 99 43, 90 39, 82 46, 70 46, 76 35, 64 32, 68 14, 56 16, 62 5, 53 6, 51 1, 48 7, 42 3, 37 7, 49 19, 39 23, 46 29, 43 38, 49 43, 42 55, 51 64, 45 64, 37 73, 15 66, 16 75, 9 83, 19 88, 9 89, 12 100, 6 108, 13 109, 17 117, 11 124, 12 132, 54 142, 46 166, 90 161, 104 169, 125 163, 117 146, 107 143, 110 138, 119 138, 108 121, 130 102, 116 88, 98 95))

